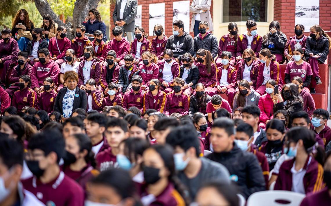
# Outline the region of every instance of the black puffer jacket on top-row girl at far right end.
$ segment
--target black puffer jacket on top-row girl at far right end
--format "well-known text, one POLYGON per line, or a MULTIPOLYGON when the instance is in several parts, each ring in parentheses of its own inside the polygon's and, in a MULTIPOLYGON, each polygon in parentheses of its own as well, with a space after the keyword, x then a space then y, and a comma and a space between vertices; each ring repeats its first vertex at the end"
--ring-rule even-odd
POLYGON ((318 54, 320 57, 317 58, 317 61, 324 64, 329 54, 329 39, 324 36, 321 36, 319 39, 307 37, 305 50, 307 60, 310 58, 309 53, 313 53, 314 55, 318 54))

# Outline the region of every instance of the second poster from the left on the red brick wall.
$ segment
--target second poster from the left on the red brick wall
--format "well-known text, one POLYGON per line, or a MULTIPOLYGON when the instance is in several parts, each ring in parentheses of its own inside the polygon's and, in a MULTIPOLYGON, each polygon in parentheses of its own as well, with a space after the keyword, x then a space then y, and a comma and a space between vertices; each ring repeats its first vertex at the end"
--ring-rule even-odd
POLYGON ((165 29, 165 3, 149 5, 149 36, 153 36, 156 24, 161 24, 165 29))

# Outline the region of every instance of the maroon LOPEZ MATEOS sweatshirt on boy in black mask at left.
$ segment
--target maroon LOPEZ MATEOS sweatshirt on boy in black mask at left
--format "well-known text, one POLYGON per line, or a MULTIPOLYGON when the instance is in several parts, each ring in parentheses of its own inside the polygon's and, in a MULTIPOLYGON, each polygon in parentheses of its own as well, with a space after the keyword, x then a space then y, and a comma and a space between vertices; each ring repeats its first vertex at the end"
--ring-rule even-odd
POLYGON ((31 88, 41 87, 46 77, 51 77, 54 83, 57 84, 59 73, 59 64, 51 59, 47 64, 34 63, 31 71, 31 88))

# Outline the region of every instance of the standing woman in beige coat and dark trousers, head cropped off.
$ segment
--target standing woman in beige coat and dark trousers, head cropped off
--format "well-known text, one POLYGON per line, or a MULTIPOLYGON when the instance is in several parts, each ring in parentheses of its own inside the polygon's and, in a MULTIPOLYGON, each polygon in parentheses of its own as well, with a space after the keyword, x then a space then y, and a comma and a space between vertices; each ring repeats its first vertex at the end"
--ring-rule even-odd
POLYGON ((212 0, 193 0, 190 6, 190 12, 193 13, 191 21, 190 32, 194 32, 197 36, 199 32, 200 21, 207 21, 209 23, 209 31, 213 31, 213 19, 210 15, 209 9, 212 5, 212 0))

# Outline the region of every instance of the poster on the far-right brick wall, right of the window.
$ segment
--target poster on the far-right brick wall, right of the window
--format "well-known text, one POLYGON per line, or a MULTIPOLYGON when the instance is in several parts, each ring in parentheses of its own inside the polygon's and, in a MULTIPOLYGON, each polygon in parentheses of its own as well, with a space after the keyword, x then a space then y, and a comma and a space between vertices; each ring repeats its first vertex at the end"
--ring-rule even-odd
POLYGON ((304 25, 306 32, 319 24, 319 0, 295 0, 295 24, 304 25))

